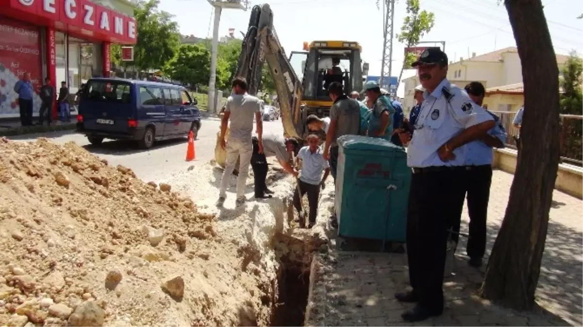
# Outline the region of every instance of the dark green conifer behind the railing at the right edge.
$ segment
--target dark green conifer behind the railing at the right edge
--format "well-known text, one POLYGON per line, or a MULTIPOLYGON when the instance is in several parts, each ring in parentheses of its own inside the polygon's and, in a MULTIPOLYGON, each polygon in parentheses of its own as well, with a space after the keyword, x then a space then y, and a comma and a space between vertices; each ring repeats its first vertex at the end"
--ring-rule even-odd
POLYGON ((563 67, 563 78, 560 80, 563 94, 561 94, 561 113, 583 115, 583 92, 581 91, 583 61, 577 52, 571 52, 563 67))

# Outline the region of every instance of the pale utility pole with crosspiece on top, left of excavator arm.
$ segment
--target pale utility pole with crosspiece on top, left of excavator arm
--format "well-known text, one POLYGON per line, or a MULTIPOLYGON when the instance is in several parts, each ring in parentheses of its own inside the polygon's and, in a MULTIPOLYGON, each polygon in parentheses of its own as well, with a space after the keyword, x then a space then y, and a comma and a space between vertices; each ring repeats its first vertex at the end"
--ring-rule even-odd
POLYGON ((208 111, 217 112, 218 101, 216 98, 216 70, 217 70, 217 53, 219 52, 219 23, 220 14, 223 9, 243 9, 247 10, 248 0, 206 0, 215 7, 215 22, 213 24, 213 41, 210 47, 210 79, 209 79, 209 101, 208 111))

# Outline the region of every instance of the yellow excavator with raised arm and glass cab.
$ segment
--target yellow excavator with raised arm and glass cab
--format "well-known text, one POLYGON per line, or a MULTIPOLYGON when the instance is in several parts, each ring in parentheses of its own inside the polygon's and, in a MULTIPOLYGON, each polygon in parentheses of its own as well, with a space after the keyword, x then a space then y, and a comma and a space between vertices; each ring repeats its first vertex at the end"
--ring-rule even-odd
MULTIPOLYGON (((245 77, 248 94, 255 95, 261 86, 262 67, 267 62, 275 81, 285 137, 304 139, 308 133, 307 116, 326 117, 330 113, 330 83, 342 83, 346 94, 362 90, 368 63, 361 60, 360 53, 357 42, 313 41, 304 42, 303 51, 292 51, 288 58, 273 28, 271 8, 268 4, 255 5, 235 76, 245 77)), ((219 137, 220 131, 215 160, 224 167, 226 153, 220 147, 219 137)))

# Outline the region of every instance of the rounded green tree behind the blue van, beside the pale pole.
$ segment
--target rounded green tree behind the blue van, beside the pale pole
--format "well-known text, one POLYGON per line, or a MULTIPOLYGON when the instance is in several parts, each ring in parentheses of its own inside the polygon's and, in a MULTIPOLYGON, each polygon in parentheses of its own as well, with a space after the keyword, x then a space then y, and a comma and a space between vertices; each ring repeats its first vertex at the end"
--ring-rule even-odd
POLYGON ((166 72, 173 80, 196 85, 206 84, 210 74, 210 51, 202 44, 183 44, 166 72))

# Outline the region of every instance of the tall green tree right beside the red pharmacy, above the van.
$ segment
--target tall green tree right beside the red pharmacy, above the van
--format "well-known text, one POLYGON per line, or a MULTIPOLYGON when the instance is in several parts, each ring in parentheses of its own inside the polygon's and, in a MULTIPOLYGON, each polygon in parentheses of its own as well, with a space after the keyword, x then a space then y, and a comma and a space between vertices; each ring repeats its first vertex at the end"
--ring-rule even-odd
POLYGON ((180 47, 178 23, 170 13, 158 9, 159 0, 141 0, 134 9, 138 42, 134 46, 134 62, 121 61, 121 46, 111 47, 111 61, 116 66, 135 66, 141 71, 164 69, 180 47))

